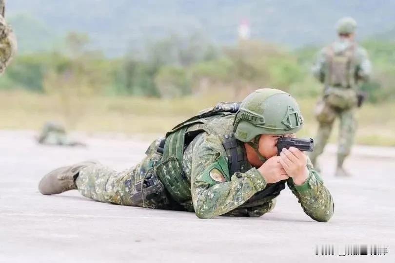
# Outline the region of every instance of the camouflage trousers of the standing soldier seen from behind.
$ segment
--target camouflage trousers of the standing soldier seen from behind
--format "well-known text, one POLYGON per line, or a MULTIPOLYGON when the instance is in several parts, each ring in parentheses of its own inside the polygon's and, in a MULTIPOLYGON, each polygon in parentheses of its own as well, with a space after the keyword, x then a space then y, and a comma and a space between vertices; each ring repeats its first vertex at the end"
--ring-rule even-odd
POLYGON ((339 139, 337 149, 337 166, 343 165, 344 159, 351 152, 355 131, 357 127, 355 119, 355 107, 347 110, 339 110, 331 107, 325 102, 320 102, 316 109, 316 118, 319 126, 315 140, 314 151, 310 152, 309 157, 316 166, 317 157, 323 152, 328 142, 336 117, 340 121, 339 139))

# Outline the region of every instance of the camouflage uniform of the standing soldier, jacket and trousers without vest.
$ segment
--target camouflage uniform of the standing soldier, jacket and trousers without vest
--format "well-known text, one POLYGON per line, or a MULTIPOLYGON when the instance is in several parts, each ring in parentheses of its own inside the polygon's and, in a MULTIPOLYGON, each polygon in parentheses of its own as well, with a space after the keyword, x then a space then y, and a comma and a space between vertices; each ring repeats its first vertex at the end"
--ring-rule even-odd
MULTIPOLYGON (((319 123, 314 151, 309 156, 314 166, 316 166, 317 157, 323 152, 328 138, 330 136, 336 117, 340 121, 340 132, 338 140, 338 158, 337 166, 341 167, 344 159, 350 154, 355 131, 357 127, 355 119, 356 94, 358 86, 362 82, 369 80, 372 72, 371 62, 367 56, 366 50, 354 42, 348 40, 338 40, 330 47, 334 53, 344 52, 350 45, 355 45, 354 55, 352 58, 352 76, 354 80, 350 87, 328 86, 324 88, 324 94, 316 106, 316 118, 319 123)), ((328 48, 323 48, 316 60, 312 71, 313 75, 321 82, 326 83, 328 67, 328 48)), ((344 73, 349 74, 349 73, 344 73)))

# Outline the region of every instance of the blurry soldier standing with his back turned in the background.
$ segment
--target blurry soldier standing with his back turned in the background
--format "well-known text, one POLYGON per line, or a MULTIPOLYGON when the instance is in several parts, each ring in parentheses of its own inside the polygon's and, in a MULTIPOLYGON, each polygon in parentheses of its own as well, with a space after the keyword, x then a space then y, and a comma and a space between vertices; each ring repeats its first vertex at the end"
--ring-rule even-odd
POLYGON ((339 39, 323 48, 313 67, 314 76, 325 85, 323 97, 317 103, 319 122, 315 150, 310 158, 315 167, 323 152, 336 116, 340 119, 336 176, 348 176, 343 162, 353 144, 356 121, 355 108, 360 107, 364 96, 358 85, 369 79, 371 63, 366 50, 355 42, 356 22, 342 18, 337 22, 339 39))

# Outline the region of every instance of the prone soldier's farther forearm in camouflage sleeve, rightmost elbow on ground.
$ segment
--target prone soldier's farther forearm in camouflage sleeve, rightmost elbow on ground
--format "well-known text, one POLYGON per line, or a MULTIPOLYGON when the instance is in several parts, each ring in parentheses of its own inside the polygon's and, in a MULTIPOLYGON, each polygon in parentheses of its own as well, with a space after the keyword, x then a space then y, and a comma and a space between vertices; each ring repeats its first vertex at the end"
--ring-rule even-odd
POLYGON ((307 159, 309 177, 306 182, 297 186, 292 178, 287 180, 288 187, 296 195, 303 211, 312 219, 327 222, 333 215, 334 202, 331 193, 324 186, 318 172, 314 170, 310 159, 307 159))

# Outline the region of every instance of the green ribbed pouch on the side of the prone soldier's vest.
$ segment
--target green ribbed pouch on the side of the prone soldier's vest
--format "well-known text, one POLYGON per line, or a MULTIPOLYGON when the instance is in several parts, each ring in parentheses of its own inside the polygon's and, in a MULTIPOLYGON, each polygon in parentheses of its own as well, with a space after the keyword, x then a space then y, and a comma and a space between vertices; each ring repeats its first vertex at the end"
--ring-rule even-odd
POLYGON ((176 156, 169 156, 156 167, 156 174, 167 191, 178 203, 192 198, 191 186, 176 156))

